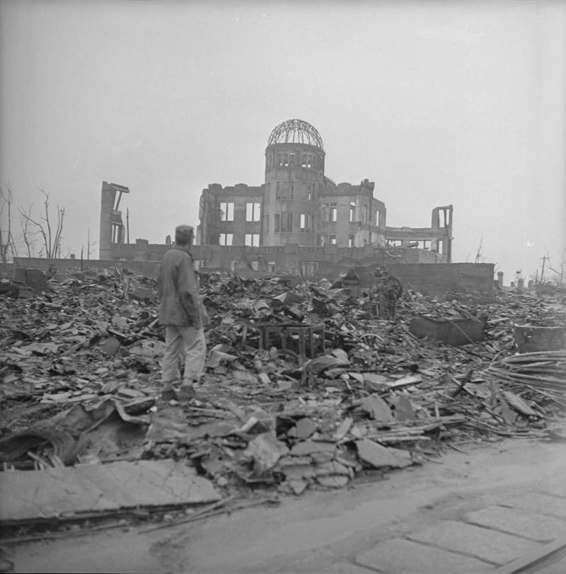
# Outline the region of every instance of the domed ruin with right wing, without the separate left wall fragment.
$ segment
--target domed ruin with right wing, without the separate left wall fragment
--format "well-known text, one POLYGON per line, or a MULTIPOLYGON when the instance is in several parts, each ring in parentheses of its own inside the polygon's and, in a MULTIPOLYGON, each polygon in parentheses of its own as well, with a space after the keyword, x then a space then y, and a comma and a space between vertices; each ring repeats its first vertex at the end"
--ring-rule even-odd
POLYGON ((265 183, 202 191, 197 243, 222 246, 411 246, 451 260, 452 206, 437 207, 427 228, 386 227, 374 182, 325 176, 323 140, 303 120, 275 127, 265 148, 265 183))

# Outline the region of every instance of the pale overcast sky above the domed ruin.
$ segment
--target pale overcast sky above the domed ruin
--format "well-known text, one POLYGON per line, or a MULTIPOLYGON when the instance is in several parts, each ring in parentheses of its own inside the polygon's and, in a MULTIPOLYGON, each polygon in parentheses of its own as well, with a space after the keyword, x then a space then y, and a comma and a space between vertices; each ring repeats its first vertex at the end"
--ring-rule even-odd
MULTIPOLYGON (((566 245, 565 1, 0 0, 0 183, 98 240, 103 180, 130 241, 196 225, 209 183, 260 185, 273 127, 375 181, 387 224, 454 205, 454 261, 526 277, 566 245)), ((95 248, 98 254, 98 244, 95 248)), ((85 251, 86 253, 86 251, 85 251)))

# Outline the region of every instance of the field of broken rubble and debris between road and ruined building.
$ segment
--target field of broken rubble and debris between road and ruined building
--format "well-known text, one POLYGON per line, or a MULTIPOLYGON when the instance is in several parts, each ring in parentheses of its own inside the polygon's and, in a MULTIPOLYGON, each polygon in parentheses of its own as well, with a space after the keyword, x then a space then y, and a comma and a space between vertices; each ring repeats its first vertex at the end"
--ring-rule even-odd
POLYGON ((328 280, 202 275, 207 372, 181 404, 160 398, 155 280, 69 272, 21 297, 0 283, 0 481, 71 466, 116 472, 117 463, 133 476, 140 461, 163 461, 216 500, 185 492, 174 505, 134 497, 65 515, 43 508, 2 517, 4 536, 116 519, 166 527, 282 493, 394 480, 458 444, 566 438, 560 292, 496 291, 486 303, 409 290, 386 321, 364 289, 352 297, 328 280))

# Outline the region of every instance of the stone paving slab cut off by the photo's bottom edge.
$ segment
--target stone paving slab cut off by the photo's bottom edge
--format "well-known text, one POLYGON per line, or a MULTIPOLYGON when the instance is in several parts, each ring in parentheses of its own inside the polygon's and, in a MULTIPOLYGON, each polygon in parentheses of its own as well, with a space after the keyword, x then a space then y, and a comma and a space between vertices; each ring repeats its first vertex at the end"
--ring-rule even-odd
POLYGON ((385 574, 441 574, 492 572, 494 566, 476 558, 393 538, 358 554, 355 562, 385 574))

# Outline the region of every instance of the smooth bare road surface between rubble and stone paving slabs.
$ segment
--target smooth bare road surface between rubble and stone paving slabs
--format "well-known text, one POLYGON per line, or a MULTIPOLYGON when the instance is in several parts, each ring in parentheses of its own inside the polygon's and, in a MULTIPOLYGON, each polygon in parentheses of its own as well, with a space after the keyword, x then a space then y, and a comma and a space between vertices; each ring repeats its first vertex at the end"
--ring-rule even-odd
POLYGON ((369 572, 357 553, 384 539, 505 498, 563 483, 566 443, 531 440, 466 444, 382 481, 284 497, 201 522, 140 533, 4 546, 14 572, 282 573, 369 572))

